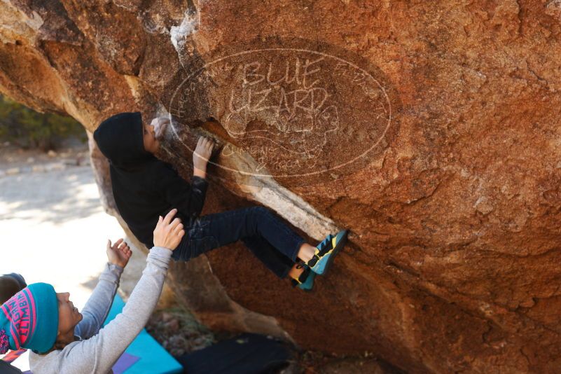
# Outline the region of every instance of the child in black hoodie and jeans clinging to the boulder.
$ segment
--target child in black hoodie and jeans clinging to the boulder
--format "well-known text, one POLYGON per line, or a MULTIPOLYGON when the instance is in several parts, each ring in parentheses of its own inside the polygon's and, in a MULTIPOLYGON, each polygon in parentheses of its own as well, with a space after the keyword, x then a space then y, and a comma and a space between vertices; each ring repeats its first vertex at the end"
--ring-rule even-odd
POLYGON ((154 118, 148 125, 143 123, 139 112, 118 113, 104 120, 94 132, 97 146, 109 159, 118 211, 132 233, 146 247, 152 247, 149 228, 155 225, 158 216, 176 207, 177 216, 186 225, 186 235, 174 251, 174 260, 188 261, 242 240, 275 275, 280 278, 289 275, 293 286, 310 291, 315 275, 325 274, 335 255, 345 246, 347 230, 328 235, 313 247, 265 207, 200 216, 208 186, 207 163, 214 143, 205 137, 198 139, 193 152, 193 177, 191 184, 187 183, 172 165, 154 156, 166 120, 154 118))

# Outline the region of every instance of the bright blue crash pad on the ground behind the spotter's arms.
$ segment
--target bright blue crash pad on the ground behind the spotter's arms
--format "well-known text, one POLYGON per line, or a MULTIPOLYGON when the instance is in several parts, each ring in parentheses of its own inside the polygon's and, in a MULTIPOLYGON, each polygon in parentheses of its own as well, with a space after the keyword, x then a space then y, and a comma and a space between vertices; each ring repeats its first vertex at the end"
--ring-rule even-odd
MULTIPOLYGON (((113 299, 111 310, 105 319, 103 326, 117 317, 117 314, 123 311, 125 302, 120 296, 116 295, 113 299)), ((157 342, 145 328, 139 333, 131 345, 125 350, 125 353, 138 357, 138 361, 127 368, 126 374, 174 374, 183 373, 183 367, 177 362, 171 354, 157 342)), ((130 357, 129 356, 129 357, 130 357)), ((134 361, 134 360, 133 360, 134 361)))

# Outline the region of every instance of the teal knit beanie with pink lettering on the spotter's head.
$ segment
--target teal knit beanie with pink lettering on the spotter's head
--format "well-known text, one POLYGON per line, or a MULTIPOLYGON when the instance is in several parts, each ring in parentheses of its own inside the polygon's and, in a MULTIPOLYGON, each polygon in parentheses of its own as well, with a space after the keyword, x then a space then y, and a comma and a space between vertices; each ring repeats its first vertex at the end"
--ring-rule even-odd
POLYGON ((20 348, 48 352, 57 333, 57 293, 50 284, 29 284, 0 307, 0 354, 20 348))

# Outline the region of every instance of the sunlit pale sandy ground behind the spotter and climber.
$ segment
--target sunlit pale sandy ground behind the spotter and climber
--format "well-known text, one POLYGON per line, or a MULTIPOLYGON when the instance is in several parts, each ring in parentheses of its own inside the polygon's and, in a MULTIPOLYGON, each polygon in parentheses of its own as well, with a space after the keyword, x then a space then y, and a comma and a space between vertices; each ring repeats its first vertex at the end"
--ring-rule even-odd
MULTIPOLYGON (((70 292, 78 308, 107 261, 107 240, 125 235, 104 212, 88 161, 84 145, 51 156, 0 147, 0 274, 19 272, 28 284, 53 284, 70 292)), ((121 279, 125 293, 146 263, 144 254, 133 251, 121 279)), ((27 359, 15 362, 26 369, 27 359)))

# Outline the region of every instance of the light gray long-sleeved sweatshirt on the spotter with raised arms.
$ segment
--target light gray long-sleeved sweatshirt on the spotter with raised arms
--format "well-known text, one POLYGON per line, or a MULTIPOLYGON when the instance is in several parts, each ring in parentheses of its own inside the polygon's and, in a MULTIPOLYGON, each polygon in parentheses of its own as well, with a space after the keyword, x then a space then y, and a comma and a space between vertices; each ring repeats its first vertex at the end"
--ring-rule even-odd
POLYGON ((76 326, 76 341, 48 354, 29 353, 33 374, 106 374, 132 340, 142 331, 158 303, 172 251, 153 247, 146 268, 123 307, 123 312, 104 328, 123 268, 107 263, 99 283, 85 304, 83 319, 76 326), (100 329, 101 328, 101 329, 100 329))

